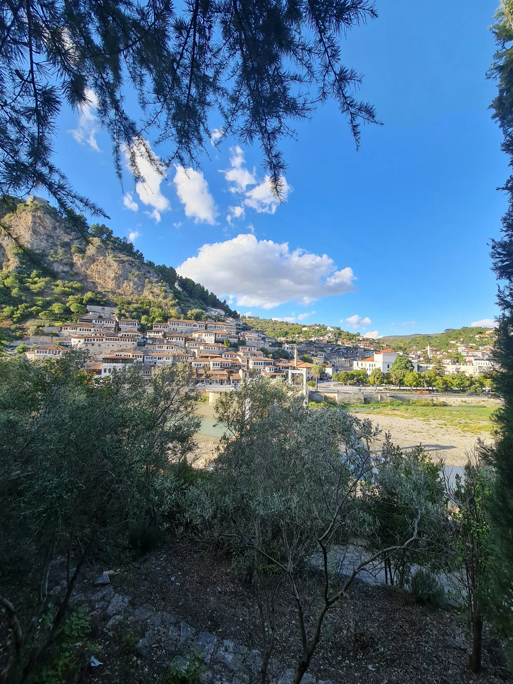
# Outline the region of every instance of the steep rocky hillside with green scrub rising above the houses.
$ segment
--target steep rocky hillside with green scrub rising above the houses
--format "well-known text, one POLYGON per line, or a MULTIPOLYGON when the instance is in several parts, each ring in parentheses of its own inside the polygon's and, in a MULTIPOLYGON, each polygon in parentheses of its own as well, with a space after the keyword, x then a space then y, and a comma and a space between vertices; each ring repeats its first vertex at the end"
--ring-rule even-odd
POLYGON ((0 328, 16 339, 70 321, 86 304, 118 306, 142 325, 202 315, 206 306, 237 315, 214 293, 172 267, 145 261, 126 238, 81 217, 18 200, 1 211, 0 328))

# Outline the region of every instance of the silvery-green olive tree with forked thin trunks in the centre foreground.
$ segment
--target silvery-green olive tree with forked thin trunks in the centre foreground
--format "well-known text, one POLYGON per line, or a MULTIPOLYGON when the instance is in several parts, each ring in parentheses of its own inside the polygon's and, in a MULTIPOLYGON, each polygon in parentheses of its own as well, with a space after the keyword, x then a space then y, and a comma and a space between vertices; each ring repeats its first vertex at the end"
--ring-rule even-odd
MULTIPOLYGON (((361 506, 361 488, 373 477, 380 457, 370 446, 379 430, 338 408, 311 410, 285 384, 257 378, 225 395, 218 418, 230 431, 215 462, 218 504, 211 529, 248 563, 261 614, 262 682, 276 635, 276 595, 287 587, 295 606, 301 657, 298 684, 311 663, 324 618, 364 568, 415 544, 425 503, 411 497, 410 535, 388 547, 363 554, 341 577, 334 567, 337 550, 359 538, 369 518, 361 506), (262 581, 272 568, 275 578, 262 581), (317 601, 300 590, 308 569, 317 568, 317 601), (261 593, 267 588, 268 618, 261 593), (270 596, 269 596, 270 593, 270 596)), ((353 542, 354 543, 354 542, 353 542)))

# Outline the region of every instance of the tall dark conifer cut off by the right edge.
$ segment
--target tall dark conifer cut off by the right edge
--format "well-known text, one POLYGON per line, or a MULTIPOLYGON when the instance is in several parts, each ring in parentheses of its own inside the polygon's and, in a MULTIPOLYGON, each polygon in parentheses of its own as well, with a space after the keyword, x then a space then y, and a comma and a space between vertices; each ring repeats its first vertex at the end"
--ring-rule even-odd
MULTIPOLYGON (((490 77, 499 81, 498 94, 492 103, 504 141, 502 150, 513 165, 513 0, 507 0, 497 13, 492 27, 498 50, 490 77)), ((493 270, 500 282, 498 303, 501 307, 495 360, 500 364, 497 389, 503 406, 497 415, 499 437, 488 456, 495 469, 495 484, 490 510, 493 549, 490 568, 490 608, 492 620, 503 634, 513 633, 513 176, 502 188, 508 195, 508 210, 502 219, 503 237, 492 240, 493 270)))

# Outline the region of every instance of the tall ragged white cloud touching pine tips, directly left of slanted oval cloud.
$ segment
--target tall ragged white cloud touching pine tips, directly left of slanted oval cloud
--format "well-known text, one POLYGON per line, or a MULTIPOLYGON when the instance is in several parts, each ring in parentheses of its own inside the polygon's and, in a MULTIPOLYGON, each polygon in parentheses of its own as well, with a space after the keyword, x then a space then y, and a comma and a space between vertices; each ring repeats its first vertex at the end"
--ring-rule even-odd
MULTIPOLYGON (((135 183, 135 192, 146 207, 153 207, 152 211, 145 211, 144 213, 154 218, 158 223, 161 211, 170 209, 169 200, 163 196, 160 189, 160 184, 168 173, 166 166, 153 153, 149 142, 142 137, 135 139, 130 148, 124 147, 123 152, 132 174, 134 176, 139 175, 142 179, 135 183)), ((124 205, 125 207, 128 206, 126 202, 124 205)), ((132 207, 128 208, 132 209, 132 207)))

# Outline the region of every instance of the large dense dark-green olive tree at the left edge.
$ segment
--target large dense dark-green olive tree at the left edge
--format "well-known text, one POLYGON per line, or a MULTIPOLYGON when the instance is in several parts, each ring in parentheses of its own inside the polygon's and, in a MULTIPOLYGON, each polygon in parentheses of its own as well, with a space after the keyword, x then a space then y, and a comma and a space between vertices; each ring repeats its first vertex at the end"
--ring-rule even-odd
POLYGON ((120 551, 131 522, 168 510, 177 464, 194 448, 185 366, 163 369, 148 387, 135 367, 98 386, 85 363, 75 352, 0 363, 0 601, 13 635, 5 682, 33 674, 90 555, 120 551), (38 620, 57 554, 67 559, 66 594, 45 630, 38 620), (16 608, 20 581, 35 606, 28 617, 16 608))

